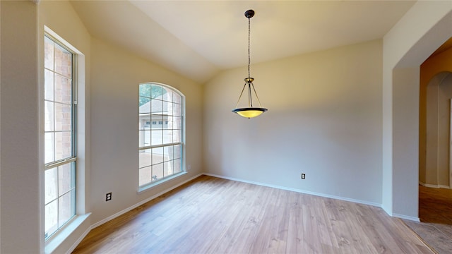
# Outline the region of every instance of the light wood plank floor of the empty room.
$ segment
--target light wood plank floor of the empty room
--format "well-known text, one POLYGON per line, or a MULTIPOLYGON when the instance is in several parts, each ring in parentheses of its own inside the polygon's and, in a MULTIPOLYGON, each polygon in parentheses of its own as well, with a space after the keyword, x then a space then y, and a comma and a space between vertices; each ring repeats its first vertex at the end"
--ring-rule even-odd
POLYGON ((73 253, 432 253, 381 208, 200 176, 93 229, 73 253))

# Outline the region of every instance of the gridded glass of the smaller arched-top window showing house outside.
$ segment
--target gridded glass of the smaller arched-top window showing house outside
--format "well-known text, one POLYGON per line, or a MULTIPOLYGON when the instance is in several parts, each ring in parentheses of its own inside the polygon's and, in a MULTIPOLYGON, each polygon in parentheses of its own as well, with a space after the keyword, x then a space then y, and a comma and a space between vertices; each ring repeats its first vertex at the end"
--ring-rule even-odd
POLYGON ((184 172, 184 96, 146 83, 139 98, 139 187, 145 188, 184 172))

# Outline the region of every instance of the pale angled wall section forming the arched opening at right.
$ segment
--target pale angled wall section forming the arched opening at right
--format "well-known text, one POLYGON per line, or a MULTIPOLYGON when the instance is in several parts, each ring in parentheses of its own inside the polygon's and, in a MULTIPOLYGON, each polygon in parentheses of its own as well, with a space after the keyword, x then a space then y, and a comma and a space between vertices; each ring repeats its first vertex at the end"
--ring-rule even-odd
POLYGON ((451 27, 452 2, 418 1, 383 40, 382 207, 395 217, 419 221, 420 66, 451 27))

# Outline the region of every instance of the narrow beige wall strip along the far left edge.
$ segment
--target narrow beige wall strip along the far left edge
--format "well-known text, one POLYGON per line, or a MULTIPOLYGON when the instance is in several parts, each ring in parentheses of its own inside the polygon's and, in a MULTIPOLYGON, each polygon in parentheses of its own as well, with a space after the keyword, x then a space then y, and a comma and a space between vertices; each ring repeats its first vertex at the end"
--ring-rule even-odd
POLYGON ((37 6, 0 1, 0 253, 42 247, 37 6))

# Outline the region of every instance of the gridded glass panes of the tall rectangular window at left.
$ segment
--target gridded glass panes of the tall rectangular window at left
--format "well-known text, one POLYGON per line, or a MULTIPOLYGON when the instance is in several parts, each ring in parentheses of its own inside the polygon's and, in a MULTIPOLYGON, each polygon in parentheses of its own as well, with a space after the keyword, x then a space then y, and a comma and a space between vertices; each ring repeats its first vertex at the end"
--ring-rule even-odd
POLYGON ((73 53, 44 38, 44 229, 49 238, 76 214, 73 53))

